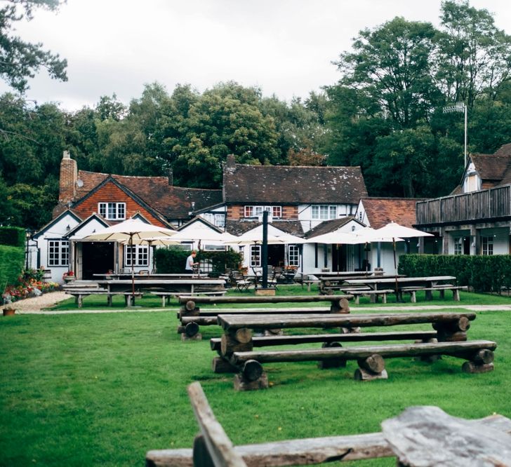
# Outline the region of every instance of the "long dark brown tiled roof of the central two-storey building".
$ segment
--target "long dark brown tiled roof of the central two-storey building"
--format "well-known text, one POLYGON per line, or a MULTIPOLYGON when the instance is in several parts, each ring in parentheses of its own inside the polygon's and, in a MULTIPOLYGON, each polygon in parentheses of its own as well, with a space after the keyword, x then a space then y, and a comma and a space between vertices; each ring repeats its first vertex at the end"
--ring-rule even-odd
POLYGON ((367 196, 359 167, 224 165, 226 203, 352 203, 367 196))

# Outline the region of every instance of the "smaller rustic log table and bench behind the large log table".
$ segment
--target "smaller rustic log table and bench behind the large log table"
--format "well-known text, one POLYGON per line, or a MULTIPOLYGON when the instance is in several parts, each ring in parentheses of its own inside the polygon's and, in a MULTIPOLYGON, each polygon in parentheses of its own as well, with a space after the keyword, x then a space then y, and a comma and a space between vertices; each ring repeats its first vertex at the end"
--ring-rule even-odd
POLYGON ((286 311, 286 309, 267 309, 250 310, 250 309, 218 309, 201 311, 197 304, 276 304, 276 303, 317 303, 317 302, 330 302, 331 313, 350 313, 349 300, 352 295, 345 295, 339 297, 338 295, 288 295, 285 297, 276 297, 269 295, 260 295, 254 297, 197 297, 191 295, 180 295, 178 301, 180 309, 178 312, 178 319, 181 324, 178 326, 178 334, 181 334, 183 340, 186 339, 201 339, 199 334, 199 326, 217 325, 216 317, 219 313, 233 313, 233 314, 261 314, 261 313, 328 313, 328 309, 306 309, 303 311, 286 311))

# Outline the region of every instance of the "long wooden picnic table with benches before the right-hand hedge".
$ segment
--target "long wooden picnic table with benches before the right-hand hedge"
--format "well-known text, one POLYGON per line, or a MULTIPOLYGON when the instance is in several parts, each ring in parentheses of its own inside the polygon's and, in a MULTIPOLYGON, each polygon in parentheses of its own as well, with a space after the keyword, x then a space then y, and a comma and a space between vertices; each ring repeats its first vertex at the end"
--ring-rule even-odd
MULTIPOLYGON (((397 300, 402 300, 402 294, 404 292, 409 293, 412 297, 411 301, 416 302, 416 292, 418 290, 424 290, 426 299, 432 299, 432 291, 439 290, 444 292, 445 290, 453 291, 453 299, 459 301, 459 290, 466 289, 466 287, 458 286, 454 284, 447 284, 448 282, 456 282, 456 276, 423 276, 423 277, 374 277, 374 278, 363 278, 363 279, 347 279, 345 283, 354 287, 368 287, 370 290, 378 291, 382 289, 394 289, 397 294, 397 300)), ((351 293, 349 287, 347 292, 351 293)), ((376 297, 375 297, 376 299, 376 297)), ((371 296, 371 301, 373 297, 371 296)))

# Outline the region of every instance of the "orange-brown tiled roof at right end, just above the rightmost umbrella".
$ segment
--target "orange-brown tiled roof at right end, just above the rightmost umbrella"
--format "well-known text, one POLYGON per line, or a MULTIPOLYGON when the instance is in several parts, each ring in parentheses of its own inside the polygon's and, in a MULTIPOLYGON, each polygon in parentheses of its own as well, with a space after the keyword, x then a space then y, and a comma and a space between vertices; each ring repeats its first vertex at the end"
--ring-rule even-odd
POLYGON ((364 198, 362 204, 373 229, 380 229, 389 222, 406 227, 416 224, 416 203, 426 198, 364 198))

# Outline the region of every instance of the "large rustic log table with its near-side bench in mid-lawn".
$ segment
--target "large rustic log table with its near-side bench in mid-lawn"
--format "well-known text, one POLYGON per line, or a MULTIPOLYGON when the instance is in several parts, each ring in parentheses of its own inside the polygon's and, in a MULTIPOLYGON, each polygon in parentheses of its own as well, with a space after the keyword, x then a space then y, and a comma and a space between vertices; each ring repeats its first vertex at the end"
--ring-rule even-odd
MULTIPOLYGON (((465 372, 487 372, 493 370, 493 350, 496 344, 492 341, 467 341, 467 330, 470 321, 475 319, 475 313, 370 313, 365 315, 253 315, 234 316, 220 314, 218 323, 223 327, 224 334, 220 339, 220 357, 213 359, 215 372, 237 371, 234 379, 234 388, 240 391, 266 388, 267 377, 263 372, 261 363, 289 362, 316 360, 321 367, 345 365, 347 360, 357 360, 359 369, 355 372, 355 379, 383 379, 387 377, 383 358, 419 357, 434 360, 436 356, 449 355, 468 360, 463 365, 465 372), (436 337, 420 339, 415 344, 379 344, 373 346, 342 347, 340 341, 364 340, 390 340, 378 333, 364 337, 344 337, 340 335, 329 339, 328 337, 297 337, 267 339, 271 344, 284 345, 292 343, 308 343, 323 341, 324 348, 305 348, 285 351, 253 351, 255 346, 263 346, 263 338, 252 337, 255 329, 285 329, 320 327, 341 327, 341 330, 357 327, 378 327, 393 325, 412 325, 430 323, 437 331, 436 337), (296 339, 296 341, 293 341, 296 339), (218 368, 218 370, 216 370, 218 368)), ((406 334, 394 333, 396 339, 406 334)), ((427 336, 425 336, 427 337, 427 336)), ((218 351, 217 341, 213 341, 212 348, 218 351)))

